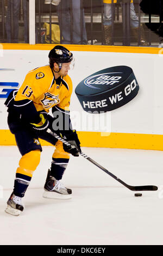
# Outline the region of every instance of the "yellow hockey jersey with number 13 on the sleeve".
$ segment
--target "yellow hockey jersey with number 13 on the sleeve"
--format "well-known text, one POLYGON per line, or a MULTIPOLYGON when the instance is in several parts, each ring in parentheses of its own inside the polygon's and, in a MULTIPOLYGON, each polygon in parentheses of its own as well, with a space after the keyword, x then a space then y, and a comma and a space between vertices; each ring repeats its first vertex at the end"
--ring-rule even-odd
MULTIPOLYGON (((15 105, 18 101, 22 102, 22 100, 28 99, 33 101, 37 111, 49 112, 49 109, 55 105, 69 111, 71 94, 70 76, 61 76, 55 80, 51 67, 49 65, 41 66, 28 72, 15 97, 15 105)), ((18 103, 18 107, 21 107, 20 103, 18 103)))

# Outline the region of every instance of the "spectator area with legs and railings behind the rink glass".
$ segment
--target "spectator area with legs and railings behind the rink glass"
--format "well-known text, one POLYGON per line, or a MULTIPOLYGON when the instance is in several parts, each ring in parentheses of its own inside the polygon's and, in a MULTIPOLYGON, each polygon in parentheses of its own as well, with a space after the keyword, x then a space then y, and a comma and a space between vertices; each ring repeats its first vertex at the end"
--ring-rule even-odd
MULTIPOLYGON (((162 1, 35 1, 36 44, 162 47, 162 1)), ((0 42, 29 43, 30 0, 0 0, 0 42)))

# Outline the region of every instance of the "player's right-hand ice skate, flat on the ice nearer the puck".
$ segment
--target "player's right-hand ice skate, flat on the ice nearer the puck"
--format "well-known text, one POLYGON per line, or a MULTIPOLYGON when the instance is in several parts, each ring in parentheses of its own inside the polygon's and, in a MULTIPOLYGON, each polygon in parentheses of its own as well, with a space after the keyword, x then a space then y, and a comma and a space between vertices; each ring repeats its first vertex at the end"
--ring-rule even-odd
POLYGON ((72 190, 64 187, 59 180, 51 176, 51 171, 48 170, 47 179, 44 186, 43 197, 56 199, 72 198, 72 190))

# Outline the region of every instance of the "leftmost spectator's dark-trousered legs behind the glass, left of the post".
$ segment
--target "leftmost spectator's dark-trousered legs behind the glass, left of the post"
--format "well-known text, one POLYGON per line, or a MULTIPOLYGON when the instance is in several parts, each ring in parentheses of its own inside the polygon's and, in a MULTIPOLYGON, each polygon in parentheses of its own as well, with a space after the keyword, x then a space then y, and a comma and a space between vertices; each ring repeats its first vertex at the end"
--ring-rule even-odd
MULTIPOLYGON (((28 20, 27 20, 27 2, 29 0, 23 0, 23 17, 24 17, 24 42, 28 42, 28 20)), ((21 8, 21 0, 8 0, 7 19, 5 23, 7 42, 18 42, 18 21, 21 8), (13 20, 11 19, 13 17, 13 20), (13 21, 13 23, 12 23, 13 21), (13 38, 12 29, 13 26, 13 38)))

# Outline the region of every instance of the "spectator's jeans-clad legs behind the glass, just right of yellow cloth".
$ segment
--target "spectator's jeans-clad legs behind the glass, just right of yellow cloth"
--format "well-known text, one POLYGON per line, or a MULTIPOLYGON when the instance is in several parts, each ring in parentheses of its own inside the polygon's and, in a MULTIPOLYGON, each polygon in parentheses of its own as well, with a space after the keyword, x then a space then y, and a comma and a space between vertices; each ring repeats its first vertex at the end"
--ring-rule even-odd
MULTIPOLYGON (((56 1, 56 0, 53 0, 56 1)), ((71 2, 70 0, 61 0, 57 5, 57 14, 59 19, 60 31, 62 32, 61 44, 87 44, 87 35, 85 29, 84 9, 83 19, 81 19, 80 0, 72 0, 72 28, 71 28, 71 2), (81 33, 80 21, 83 23, 83 33, 81 33), (72 41, 71 41, 72 29, 72 41), (81 34, 82 38, 81 38, 81 34), (82 39, 82 40, 81 40, 82 39)))

